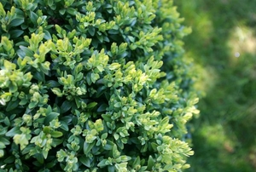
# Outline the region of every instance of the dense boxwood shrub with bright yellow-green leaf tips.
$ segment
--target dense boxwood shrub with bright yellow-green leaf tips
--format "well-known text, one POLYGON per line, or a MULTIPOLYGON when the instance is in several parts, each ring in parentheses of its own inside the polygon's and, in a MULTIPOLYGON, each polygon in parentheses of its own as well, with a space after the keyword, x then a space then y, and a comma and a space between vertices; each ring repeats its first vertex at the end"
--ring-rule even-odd
POLYGON ((181 171, 198 113, 170 0, 0 1, 0 171, 181 171))

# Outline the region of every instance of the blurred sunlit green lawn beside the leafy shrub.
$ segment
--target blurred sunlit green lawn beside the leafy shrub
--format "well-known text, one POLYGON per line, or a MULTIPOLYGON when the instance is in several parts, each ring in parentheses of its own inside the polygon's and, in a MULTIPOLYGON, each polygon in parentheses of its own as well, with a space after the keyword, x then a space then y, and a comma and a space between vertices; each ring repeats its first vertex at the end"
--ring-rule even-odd
POLYGON ((201 90, 190 172, 256 171, 256 1, 174 0, 201 90))

